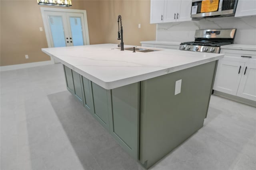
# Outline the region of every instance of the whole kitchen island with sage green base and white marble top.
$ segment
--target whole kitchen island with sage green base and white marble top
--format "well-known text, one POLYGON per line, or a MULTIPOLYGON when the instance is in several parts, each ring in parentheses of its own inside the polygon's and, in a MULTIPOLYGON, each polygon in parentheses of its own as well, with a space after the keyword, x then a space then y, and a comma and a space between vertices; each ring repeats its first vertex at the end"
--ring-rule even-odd
POLYGON ((64 65, 67 89, 149 168, 203 126, 223 55, 167 49, 133 53, 116 47, 42 51, 64 65))

